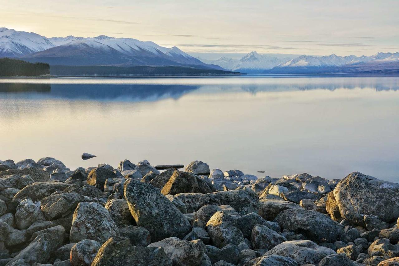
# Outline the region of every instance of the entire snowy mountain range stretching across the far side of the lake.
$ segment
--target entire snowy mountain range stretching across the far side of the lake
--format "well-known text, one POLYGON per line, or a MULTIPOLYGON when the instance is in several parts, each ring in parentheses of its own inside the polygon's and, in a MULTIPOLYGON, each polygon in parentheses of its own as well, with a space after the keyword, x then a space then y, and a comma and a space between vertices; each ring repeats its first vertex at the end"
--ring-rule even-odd
POLYGON ((250 52, 241 59, 199 60, 176 46, 100 35, 46 38, 33 32, 0 28, 0 58, 20 58, 63 66, 184 66, 242 73, 399 73, 399 52, 373 56, 273 56, 250 52))

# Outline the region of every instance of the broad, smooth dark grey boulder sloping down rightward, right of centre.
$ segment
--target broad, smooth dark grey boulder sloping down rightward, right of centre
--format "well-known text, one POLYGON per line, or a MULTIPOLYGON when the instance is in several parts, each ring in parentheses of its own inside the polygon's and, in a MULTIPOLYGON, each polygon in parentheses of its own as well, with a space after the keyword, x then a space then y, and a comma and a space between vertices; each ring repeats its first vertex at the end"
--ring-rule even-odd
POLYGON ((315 242, 335 242, 344 233, 344 228, 330 217, 314 210, 288 209, 276 217, 284 229, 303 234, 315 242))

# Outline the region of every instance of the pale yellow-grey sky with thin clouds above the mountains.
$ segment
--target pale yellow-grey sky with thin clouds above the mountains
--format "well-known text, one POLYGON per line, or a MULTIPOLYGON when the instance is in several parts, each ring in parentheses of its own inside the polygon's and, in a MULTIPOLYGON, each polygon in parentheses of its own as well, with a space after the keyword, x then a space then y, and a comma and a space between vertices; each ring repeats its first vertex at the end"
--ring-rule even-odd
POLYGON ((399 51, 398 0, 0 0, 0 27, 241 55, 399 51))

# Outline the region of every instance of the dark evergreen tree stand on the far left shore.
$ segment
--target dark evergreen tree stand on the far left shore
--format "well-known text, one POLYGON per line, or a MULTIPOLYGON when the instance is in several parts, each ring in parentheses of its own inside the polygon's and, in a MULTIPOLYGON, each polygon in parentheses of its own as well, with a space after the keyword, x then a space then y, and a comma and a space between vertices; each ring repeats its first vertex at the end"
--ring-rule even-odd
POLYGON ((17 59, 0 58, 0 77, 40 76, 49 73, 49 64, 29 63, 17 59))

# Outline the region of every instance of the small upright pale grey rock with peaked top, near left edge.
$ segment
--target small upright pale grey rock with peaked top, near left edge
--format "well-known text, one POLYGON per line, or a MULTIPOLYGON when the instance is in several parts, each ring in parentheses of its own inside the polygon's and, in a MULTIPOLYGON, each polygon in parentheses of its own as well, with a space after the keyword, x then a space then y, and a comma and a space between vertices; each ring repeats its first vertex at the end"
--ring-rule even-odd
POLYGON ((36 221, 44 221, 43 212, 31 199, 24 199, 18 204, 15 212, 15 224, 19 229, 26 229, 36 221))

